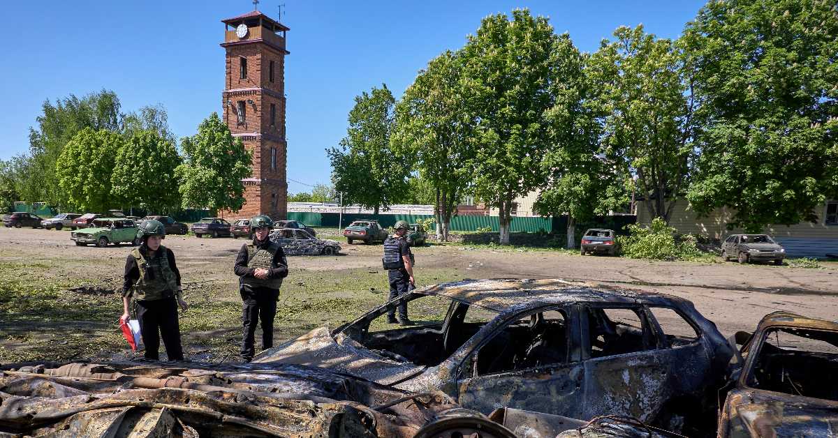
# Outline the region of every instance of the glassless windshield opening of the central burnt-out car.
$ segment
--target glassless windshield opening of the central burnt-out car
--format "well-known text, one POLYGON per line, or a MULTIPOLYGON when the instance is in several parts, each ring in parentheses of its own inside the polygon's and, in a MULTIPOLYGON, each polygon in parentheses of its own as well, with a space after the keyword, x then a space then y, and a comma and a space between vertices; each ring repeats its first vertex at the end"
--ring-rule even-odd
POLYGON ((392 306, 401 301, 410 301, 411 319, 416 326, 394 326, 387 322, 387 307, 381 307, 340 332, 387 358, 433 367, 498 316, 497 312, 446 296, 411 293, 393 301, 392 306))

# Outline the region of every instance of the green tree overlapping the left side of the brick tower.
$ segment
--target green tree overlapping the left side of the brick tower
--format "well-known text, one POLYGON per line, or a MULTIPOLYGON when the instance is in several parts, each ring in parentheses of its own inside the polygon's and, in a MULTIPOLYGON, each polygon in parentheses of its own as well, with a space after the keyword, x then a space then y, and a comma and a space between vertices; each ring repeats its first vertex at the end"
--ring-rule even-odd
POLYGON ((184 163, 175 169, 175 175, 184 209, 239 211, 245 204, 241 180, 251 176, 253 158, 218 114, 204 119, 198 133, 181 139, 180 146, 184 163))

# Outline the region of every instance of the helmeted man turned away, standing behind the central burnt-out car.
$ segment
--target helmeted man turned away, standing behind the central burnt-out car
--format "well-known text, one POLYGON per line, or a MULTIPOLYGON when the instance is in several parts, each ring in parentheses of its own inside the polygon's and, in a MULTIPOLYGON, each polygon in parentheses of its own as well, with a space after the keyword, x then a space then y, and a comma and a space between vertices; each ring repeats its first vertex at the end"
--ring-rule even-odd
MULTIPOLYGON (((399 220, 396 221, 395 228, 396 232, 384 241, 384 257, 381 259, 390 280, 388 301, 406 294, 411 290, 411 286, 416 287, 416 282, 413 281, 413 254, 405 237, 410 227, 404 220, 399 220)), ((399 305, 398 320, 396 320, 396 309, 393 307, 387 309, 387 322, 391 324, 399 322, 402 326, 411 325, 413 322, 407 318, 407 303, 403 302, 399 305)))

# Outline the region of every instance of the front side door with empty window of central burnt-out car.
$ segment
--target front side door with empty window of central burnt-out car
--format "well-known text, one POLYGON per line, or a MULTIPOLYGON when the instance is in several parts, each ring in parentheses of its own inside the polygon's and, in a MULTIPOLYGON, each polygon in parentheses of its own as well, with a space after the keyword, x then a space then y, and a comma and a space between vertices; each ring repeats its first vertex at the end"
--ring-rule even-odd
POLYGON ((584 399, 585 368, 578 348, 580 327, 577 306, 574 304, 551 304, 496 317, 493 322, 487 323, 472 339, 464 343, 463 347, 452 354, 452 357, 458 356, 463 359, 454 368, 453 380, 455 384, 453 384, 453 392, 455 394, 450 395, 453 395, 463 407, 479 410, 486 415, 491 410, 499 407, 536 410, 547 414, 572 417, 581 414, 582 400, 584 399), (520 321, 521 318, 549 311, 561 311, 566 318, 566 363, 551 363, 534 368, 474 375, 477 362, 472 361, 471 358, 479 353, 480 348, 483 348, 510 324, 520 321), (474 338, 478 340, 474 340, 474 338), (463 348, 468 348, 468 352, 460 351, 463 348), (487 380, 490 381, 487 382, 487 380), (553 382, 554 385, 549 385, 549 382, 553 382), (469 386, 474 388, 474 395, 469 394, 469 386), (496 390, 480 390, 480 388, 486 388, 487 386, 489 388, 499 386, 503 390, 500 391, 501 394, 498 394, 499 391, 496 390), (544 392, 539 394, 537 392, 539 389, 544 389, 544 392), (516 397, 516 393, 520 396, 516 397), (561 399, 562 396, 564 399, 561 399), (492 399, 493 397, 494 399, 492 399), (480 400, 479 404, 475 403, 474 400, 480 400))

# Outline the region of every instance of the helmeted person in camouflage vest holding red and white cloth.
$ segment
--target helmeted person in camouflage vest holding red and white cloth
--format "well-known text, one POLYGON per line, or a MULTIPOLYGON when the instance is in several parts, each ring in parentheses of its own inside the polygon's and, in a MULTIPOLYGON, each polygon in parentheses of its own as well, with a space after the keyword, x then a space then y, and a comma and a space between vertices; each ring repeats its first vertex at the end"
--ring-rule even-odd
POLYGON ((159 360, 160 338, 163 338, 168 360, 184 360, 178 306, 184 312, 189 306, 184 301, 174 253, 160 245, 166 228, 157 220, 147 220, 139 228, 141 244, 125 260, 120 319, 127 321, 131 317, 128 309, 133 298, 146 347, 145 358, 159 360))

